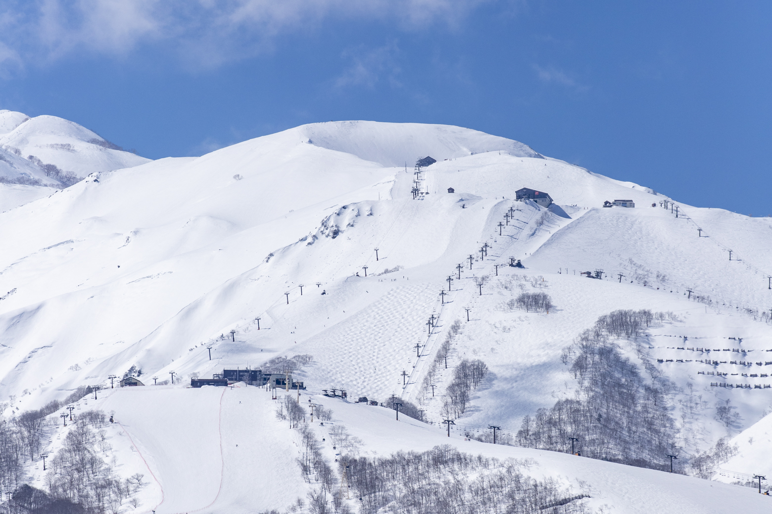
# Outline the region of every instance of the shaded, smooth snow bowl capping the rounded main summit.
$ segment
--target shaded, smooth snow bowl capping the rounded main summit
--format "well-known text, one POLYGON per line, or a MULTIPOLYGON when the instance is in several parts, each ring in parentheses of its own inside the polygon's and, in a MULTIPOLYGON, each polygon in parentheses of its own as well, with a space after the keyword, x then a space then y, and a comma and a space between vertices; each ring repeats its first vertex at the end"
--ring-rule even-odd
POLYGON ((475 153, 503 152, 516 157, 541 155, 530 146, 499 136, 451 125, 340 121, 290 129, 308 143, 351 153, 382 166, 410 166, 416 156, 455 159, 475 153))

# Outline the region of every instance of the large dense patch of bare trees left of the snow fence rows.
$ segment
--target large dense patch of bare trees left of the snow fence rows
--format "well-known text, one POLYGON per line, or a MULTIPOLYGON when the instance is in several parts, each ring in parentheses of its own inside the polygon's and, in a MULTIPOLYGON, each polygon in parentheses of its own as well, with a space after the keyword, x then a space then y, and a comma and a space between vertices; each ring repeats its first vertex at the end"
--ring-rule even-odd
POLYGON ((575 449, 585 457, 665 469, 663 456, 679 449, 669 413, 674 385, 657 374, 645 380, 608 338, 635 334, 651 317, 648 311, 615 311, 584 331, 564 352, 578 381, 575 397, 526 416, 517 443, 566 451, 569 438, 577 438, 575 449))

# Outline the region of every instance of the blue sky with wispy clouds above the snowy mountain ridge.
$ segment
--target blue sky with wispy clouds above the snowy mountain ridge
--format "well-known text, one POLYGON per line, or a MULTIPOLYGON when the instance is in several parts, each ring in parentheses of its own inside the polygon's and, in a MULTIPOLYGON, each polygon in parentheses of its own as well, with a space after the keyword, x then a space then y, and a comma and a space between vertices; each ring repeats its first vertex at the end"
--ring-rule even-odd
POLYGON ((330 119, 448 123, 772 214, 769 2, 2 5, 0 109, 154 159, 330 119))

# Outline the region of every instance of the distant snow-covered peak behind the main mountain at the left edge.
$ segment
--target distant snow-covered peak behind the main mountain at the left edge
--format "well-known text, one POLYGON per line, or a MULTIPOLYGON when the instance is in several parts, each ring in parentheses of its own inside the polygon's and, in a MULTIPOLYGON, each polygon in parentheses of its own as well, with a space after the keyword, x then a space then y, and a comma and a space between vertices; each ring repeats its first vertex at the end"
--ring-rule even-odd
POLYGON ((19 176, 34 177, 43 185, 53 186, 59 186, 61 180, 45 170, 43 164, 52 164, 62 172, 82 177, 149 162, 144 157, 116 149, 97 133, 77 123, 56 116, 29 118, 8 110, 0 111, 0 152, 0 176, 9 180, 19 176), (14 156, 23 162, 16 162, 14 156))

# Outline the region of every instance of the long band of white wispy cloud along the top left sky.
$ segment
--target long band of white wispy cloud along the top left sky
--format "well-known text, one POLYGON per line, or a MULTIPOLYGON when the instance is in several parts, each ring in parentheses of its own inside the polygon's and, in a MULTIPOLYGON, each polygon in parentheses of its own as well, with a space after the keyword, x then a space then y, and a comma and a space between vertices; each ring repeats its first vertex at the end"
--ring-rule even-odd
POLYGON ((269 51, 276 35, 327 18, 377 19, 401 29, 458 25, 496 0, 6 0, 0 66, 74 52, 126 55, 163 45, 194 66, 218 66, 269 51))

